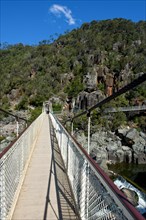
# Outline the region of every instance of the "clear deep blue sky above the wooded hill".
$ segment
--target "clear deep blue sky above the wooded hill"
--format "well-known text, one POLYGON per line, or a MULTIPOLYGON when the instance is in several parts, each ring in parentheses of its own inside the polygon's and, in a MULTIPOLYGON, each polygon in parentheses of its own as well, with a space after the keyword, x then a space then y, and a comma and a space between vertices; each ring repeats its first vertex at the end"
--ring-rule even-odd
POLYGON ((35 45, 92 20, 146 20, 146 0, 0 0, 0 4, 0 40, 9 44, 35 45))

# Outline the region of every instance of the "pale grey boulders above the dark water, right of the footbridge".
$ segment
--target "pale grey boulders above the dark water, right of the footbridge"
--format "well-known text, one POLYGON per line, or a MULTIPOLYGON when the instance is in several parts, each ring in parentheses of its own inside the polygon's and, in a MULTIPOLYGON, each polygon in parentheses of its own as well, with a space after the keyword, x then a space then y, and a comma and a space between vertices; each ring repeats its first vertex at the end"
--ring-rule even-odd
MULTIPOLYGON (((129 129, 129 132, 127 129, 121 129, 119 132, 124 134, 124 136, 118 137, 115 133, 103 130, 98 130, 92 134, 90 144, 91 157, 99 164, 103 161, 146 164, 146 141, 143 138, 146 137, 145 134, 142 133, 142 137, 141 132, 136 131, 136 129, 129 129), (137 136, 134 134, 137 134, 137 136), (130 146, 128 145, 129 142, 127 142, 127 145, 123 144, 126 135, 128 136, 126 140, 132 140, 133 144, 131 145, 130 142, 130 146)), ((87 137, 78 134, 76 138, 87 149, 87 137)))

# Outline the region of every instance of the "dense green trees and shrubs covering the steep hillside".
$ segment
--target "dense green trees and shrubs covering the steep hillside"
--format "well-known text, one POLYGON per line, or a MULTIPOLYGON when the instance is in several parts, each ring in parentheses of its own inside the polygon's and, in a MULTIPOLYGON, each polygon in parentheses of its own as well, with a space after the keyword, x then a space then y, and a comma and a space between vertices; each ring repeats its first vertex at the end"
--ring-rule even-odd
MULTIPOLYGON (((84 76, 95 66, 108 68, 117 77, 119 87, 127 77, 131 80, 146 72, 146 22, 92 21, 51 43, 43 40, 35 46, 3 44, 0 56, 2 107, 39 108, 54 94, 63 101, 67 96, 76 97, 84 89, 84 76), (128 74, 123 76, 127 68, 128 74)), ((99 89, 103 87, 101 83, 99 89)), ((144 85, 124 96, 124 102, 137 97, 141 102, 146 99, 144 85)))

